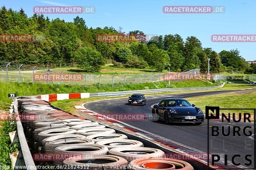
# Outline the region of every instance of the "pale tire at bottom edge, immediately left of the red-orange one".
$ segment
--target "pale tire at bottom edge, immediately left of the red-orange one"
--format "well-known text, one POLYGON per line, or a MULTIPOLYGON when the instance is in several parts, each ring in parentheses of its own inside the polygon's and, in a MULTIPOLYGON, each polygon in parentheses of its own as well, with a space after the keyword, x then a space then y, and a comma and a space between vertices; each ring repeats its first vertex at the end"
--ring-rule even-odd
POLYGON ((124 168, 118 168, 118 170, 126 170, 125 167, 128 165, 128 162, 124 158, 114 156, 114 155, 90 155, 85 159, 76 159, 74 157, 65 159, 63 161, 63 165, 67 167, 66 170, 73 170, 73 169, 78 170, 79 169, 78 167, 82 167, 82 170, 86 170, 86 169, 87 170, 94 170, 94 169, 103 170, 103 169, 117 169, 117 168, 111 168, 111 167, 124 167, 124 168), (87 162, 89 162, 89 164, 87 162))

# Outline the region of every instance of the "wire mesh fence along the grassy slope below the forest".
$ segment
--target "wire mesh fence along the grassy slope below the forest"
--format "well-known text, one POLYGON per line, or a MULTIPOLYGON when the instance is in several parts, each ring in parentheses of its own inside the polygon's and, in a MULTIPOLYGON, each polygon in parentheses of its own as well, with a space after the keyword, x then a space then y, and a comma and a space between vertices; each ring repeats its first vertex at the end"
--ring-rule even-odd
MULTIPOLYGON (((166 73, 105 75, 72 72, 73 68, 50 69, 36 65, 25 65, 0 61, 0 81, 40 82, 64 85, 127 85, 164 81, 166 73)), ((183 73, 199 73, 200 69, 185 70, 183 73)))

